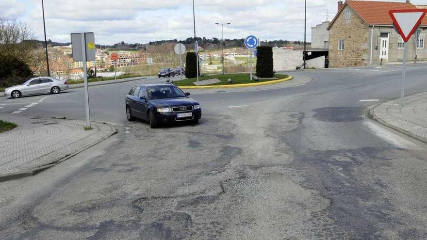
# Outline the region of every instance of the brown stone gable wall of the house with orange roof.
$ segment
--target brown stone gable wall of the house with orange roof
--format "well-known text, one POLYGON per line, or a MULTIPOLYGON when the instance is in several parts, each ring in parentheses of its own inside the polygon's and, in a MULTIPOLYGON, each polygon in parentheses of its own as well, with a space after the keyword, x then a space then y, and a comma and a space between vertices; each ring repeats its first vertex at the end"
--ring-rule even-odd
POLYGON ((369 61, 368 26, 349 6, 340 13, 329 29, 329 67, 362 66, 369 61), (350 19, 345 11, 350 9, 350 19), (338 50, 338 41, 344 39, 344 50, 338 50))

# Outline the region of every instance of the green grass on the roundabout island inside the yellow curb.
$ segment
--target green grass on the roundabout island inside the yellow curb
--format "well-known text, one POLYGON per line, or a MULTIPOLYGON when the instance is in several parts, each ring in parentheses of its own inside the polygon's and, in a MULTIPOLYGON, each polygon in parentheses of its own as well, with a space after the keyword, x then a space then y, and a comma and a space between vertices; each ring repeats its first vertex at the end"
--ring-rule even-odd
MULTIPOLYGON (((285 74, 275 74, 274 77, 276 79, 259 79, 258 82, 263 81, 271 81, 271 80, 277 80, 277 79, 285 79, 288 77, 288 75, 285 74)), ((218 75, 210 75, 210 76, 202 76, 199 78, 199 80, 209 80, 209 79, 218 79, 221 82, 204 85, 204 86, 216 86, 216 85, 229 85, 228 79, 231 79, 231 84, 244 84, 244 83, 255 83, 255 80, 250 81, 250 74, 249 73, 238 73, 238 74, 218 74, 218 75)), ((177 86, 196 86, 193 82, 197 81, 197 78, 194 79, 186 79, 186 80, 180 80, 180 81, 174 81, 174 84, 177 86)))

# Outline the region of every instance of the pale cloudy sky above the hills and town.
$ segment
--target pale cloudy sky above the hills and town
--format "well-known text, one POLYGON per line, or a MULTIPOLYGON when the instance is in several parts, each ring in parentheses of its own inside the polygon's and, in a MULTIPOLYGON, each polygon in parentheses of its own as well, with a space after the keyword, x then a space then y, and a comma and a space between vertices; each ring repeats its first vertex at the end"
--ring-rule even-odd
MULTIPOLYGON (((337 12, 338 0, 307 0, 311 27, 337 12)), ((405 0, 394 0, 404 2, 405 0)), ((411 0, 427 4, 427 0, 411 0)), ((195 0, 198 37, 221 38, 215 22, 230 22, 226 38, 303 40, 304 0, 195 0)), ((194 35, 192 0, 45 0, 48 38, 69 42, 71 32, 95 32, 98 44, 183 40, 194 35)), ((25 21, 43 39, 41 0, 0 0, 0 17, 25 21)))

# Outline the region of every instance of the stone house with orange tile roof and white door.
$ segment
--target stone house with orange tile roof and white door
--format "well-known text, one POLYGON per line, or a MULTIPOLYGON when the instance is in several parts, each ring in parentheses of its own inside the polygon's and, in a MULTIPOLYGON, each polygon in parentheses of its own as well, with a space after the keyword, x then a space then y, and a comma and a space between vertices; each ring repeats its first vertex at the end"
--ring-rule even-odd
MULTIPOLYGON (((346 67, 401 62, 403 40, 394 30, 389 15, 394 9, 425 8, 409 0, 383 2, 346 0, 338 2, 338 13, 329 24, 329 66, 346 67)), ((424 44, 427 17, 423 19, 418 38, 412 36, 408 44, 408 60, 427 60, 424 44)))

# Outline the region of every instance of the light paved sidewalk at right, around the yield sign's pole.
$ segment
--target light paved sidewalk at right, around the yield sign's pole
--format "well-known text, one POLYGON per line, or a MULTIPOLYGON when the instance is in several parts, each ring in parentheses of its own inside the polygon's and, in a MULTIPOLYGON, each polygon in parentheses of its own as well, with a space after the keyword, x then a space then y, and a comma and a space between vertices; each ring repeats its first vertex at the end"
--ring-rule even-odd
POLYGON ((380 123, 427 143, 427 92, 379 104, 370 110, 380 123))

